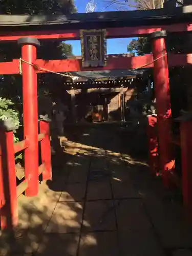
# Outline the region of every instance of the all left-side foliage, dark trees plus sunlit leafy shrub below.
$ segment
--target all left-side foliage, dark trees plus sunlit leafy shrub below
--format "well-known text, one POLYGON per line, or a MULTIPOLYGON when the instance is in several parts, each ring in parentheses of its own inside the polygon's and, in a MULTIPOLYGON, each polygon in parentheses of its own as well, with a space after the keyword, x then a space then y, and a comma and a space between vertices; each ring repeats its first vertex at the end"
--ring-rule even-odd
MULTIPOLYGON (((73 0, 0 0, 0 14, 12 15, 63 15, 77 12, 73 0)), ((20 57, 20 49, 16 42, 1 44, 0 61, 12 61, 20 57)), ((72 55, 72 46, 65 42, 42 41, 38 58, 43 59, 62 59, 66 55, 72 55)), ((39 87, 53 87, 51 74, 38 76, 39 87)), ((19 113, 23 112, 22 97, 22 77, 20 75, 0 76, 0 119, 9 120, 13 127, 19 126, 19 113), (11 100, 10 100, 11 99, 11 100), (12 108, 14 105, 14 109, 12 108)), ((42 93, 39 93, 42 98, 42 93)), ((46 97, 46 95, 44 95, 46 97)), ((19 139, 14 131, 14 142, 19 139)), ((21 159, 22 154, 15 159, 21 159)))

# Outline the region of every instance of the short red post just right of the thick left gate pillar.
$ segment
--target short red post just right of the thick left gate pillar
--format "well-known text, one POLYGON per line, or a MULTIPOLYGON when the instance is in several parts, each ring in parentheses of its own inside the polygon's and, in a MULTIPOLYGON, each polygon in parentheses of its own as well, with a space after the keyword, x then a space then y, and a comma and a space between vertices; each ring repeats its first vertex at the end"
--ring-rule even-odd
POLYGON ((39 122, 40 133, 45 134, 45 138, 41 140, 41 161, 45 163, 45 172, 42 173, 43 180, 52 180, 52 168, 51 168, 51 143, 50 143, 50 129, 49 119, 42 119, 39 122))

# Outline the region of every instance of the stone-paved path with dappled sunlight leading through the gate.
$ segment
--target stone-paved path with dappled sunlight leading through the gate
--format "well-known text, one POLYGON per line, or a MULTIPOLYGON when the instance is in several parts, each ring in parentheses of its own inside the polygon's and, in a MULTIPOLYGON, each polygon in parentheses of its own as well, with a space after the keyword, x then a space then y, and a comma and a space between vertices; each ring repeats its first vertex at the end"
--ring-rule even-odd
POLYGON ((67 144, 53 181, 41 183, 37 197, 19 198, 17 238, 0 255, 192 255, 177 194, 122 151, 113 129, 89 128, 67 144))

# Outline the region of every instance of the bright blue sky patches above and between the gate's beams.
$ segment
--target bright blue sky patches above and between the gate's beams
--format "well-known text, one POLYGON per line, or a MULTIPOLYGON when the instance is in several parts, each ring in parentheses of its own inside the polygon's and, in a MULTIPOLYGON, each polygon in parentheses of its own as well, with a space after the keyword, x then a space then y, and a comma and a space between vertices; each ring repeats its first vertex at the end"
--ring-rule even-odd
MULTIPOLYGON (((86 12, 86 5, 89 2, 89 0, 75 0, 75 6, 77 7, 78 12, 84 13, 86 12)), ((106 8, 108 6, 106 3, 104 3, 103 0, 95 0, 95 4, 97 4, 96 12, 100 12, 102 10, 104 11, 116 11, 116 8, 114 6, 111 6, 109 8, 106 8), (105 9, 106 8, 106 9, 105 9)), ((120 54, 120 53, 127 53, 126 47, 129 45, 129 42, 132 40, 132 38, 115 38, 115 39, 107 39, 107 54, 120 54)), ((81 55, 81 47, 80 47, 80 41, 79 40, 70 40, 66 41, 67 43, 71 44, 73 46, 73 54, 74 55, 81 55)))

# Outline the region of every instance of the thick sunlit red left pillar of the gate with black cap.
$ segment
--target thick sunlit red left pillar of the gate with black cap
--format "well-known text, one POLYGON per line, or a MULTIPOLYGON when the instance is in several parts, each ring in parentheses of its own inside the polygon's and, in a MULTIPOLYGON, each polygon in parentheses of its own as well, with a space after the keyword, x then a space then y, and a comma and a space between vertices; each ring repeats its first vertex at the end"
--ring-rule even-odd
POLYGON ((36 38, 20 38, 22 46, 23 105, 24 105, 24 139, 29 141, 25 150, 25 178, 28 178, 26 196, 38 193, 38 111, 37 111, 37 74, 31 65, 36 60, 36 38))

